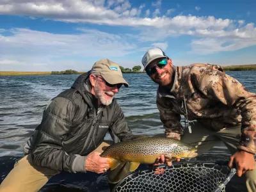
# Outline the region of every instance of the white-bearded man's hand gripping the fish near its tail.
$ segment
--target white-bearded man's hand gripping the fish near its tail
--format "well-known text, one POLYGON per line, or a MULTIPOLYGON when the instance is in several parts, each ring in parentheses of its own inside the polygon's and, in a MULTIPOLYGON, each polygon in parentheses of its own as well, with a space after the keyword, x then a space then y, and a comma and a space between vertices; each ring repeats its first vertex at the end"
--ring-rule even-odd
POLYGON ((109 169, 108 158, 100 157, 99 152, 91 152, 86 157, 84 168, 88 172, 104 173, 109 169))

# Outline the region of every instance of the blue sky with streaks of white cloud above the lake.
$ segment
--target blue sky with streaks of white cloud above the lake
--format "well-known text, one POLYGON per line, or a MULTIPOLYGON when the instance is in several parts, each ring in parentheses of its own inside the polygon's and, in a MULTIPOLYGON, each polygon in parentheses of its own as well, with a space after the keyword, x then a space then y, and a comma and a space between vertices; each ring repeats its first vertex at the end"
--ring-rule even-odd
POLYGON ((0 0, 0 70, 132 68, 152 47, 178 66, 255 64, 255 22, 255 0, 0 0))

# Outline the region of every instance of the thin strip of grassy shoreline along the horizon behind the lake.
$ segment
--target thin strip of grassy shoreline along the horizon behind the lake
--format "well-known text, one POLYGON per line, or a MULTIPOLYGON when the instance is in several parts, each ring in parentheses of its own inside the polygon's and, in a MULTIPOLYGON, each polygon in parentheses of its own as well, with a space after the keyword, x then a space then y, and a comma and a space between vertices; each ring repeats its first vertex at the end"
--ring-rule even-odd
MULTIPOLYGON (((224 70, 238 71, 238 70, 256 70, 256 64, 252 65, 229 65, 222 66, 224 70)), ((78 72, 82 74, 84 72, 78 72)), ((125 73, 134 73, 134 72, 123 72, 125 73)), ((136 72, 143 73, 143 72, 136 72)), ((49 76, 52 75, 52 72, 21 72, 21 71, 0 71, 0 76, 49 76)))

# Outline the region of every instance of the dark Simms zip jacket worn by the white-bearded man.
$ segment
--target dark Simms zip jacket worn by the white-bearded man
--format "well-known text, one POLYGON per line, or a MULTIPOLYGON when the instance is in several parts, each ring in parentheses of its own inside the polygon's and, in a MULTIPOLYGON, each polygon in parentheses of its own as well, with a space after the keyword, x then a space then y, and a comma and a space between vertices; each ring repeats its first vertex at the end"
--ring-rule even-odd
POLYGON ((70 89, 45 108, 41 124, 25 147, 36 165, 85 172, 86 155, 102 143, 108 131, 115 142, 133 137, 115 99, 98 111, 98 100, 90 93, 89 74, 77 77, 70 89))

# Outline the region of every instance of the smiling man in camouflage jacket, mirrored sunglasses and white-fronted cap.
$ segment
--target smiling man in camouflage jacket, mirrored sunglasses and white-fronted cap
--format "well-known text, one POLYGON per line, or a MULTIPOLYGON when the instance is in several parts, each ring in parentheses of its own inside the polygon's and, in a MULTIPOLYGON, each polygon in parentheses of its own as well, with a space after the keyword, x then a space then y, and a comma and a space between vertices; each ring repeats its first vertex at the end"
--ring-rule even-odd
POLYGON ((198 143, 201 153, 223 141, 232 153, 228 166, 235 165, 237 175, 246 176, 248 191, 256 191, 255 93, 246 91, 218 65, 175 67, 159 48, 149 49, 141 62, 148 76, 159 84, 156 102, 166 136, 198 143), (180 115, 188 123, 186 130, 180 115))

